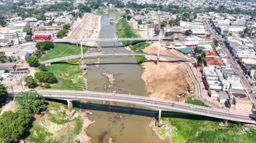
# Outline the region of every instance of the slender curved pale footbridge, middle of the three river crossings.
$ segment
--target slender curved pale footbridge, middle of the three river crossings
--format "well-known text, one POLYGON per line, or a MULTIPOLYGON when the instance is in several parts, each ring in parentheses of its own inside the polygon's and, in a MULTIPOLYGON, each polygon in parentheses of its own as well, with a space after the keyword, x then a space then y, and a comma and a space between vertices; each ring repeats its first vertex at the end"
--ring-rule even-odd
POLYGON ((87 58, 87 57, 94 57, 94 56, 155 56, 155 57, 164 57, 164 58, 170 58, 173 60, 177 61, 183 61, 183 62, 189 62, 189 59, 185 58, 179 58, 176 56, 167 56, 167 55, 156 55, 156 54, 150 54, 150 53, 104 53, 104 52, 96 52, 96 53, 88 53, 84 55, 72 55, 72 56, 64 56, 64 57, 59 57, 47 61, 42 61, 40 64, 48 64, 48 63, 53 63, 53 62, 59 62, 63 60, 68 60, 68 59, 74 59, 74 58, 79 58, 79 57, 87 58))

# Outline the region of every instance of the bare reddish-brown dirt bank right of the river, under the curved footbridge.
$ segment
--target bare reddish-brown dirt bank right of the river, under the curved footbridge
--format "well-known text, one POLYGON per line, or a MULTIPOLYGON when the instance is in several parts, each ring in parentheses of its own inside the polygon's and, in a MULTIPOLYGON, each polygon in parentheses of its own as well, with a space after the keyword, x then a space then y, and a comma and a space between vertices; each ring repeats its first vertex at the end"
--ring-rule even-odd
MULTIPOLYGON (((143 50, 145 53, 157 53, 157 42, 151 44, 143 50)), ((182 55, 166 48, 160 48, 160 54, 182 57, 182 55)), ((186 68, 181 62, 170 61, 170 59, 160 58, 159 63, 156 65, 156 57, 146 56, 148 60, 143 62, 145 71, 141 78, 145 81, 146 89, 148 90, 149 97, 168 99, 175 101, 184 101, 185 97, 180 99, 176 95, 180 93, 188 93, 188 87, 194 89, 192 80, 186 68)))

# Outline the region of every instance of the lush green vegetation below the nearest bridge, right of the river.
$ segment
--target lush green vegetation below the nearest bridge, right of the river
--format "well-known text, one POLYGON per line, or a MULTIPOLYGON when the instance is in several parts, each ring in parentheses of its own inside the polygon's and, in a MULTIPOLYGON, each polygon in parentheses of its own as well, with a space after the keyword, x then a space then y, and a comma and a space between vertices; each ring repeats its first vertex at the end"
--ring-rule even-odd
POLYGON ((164 123, 171 124, 173 143, 254 143, 256 130, 243 131, 241 124, 229 123, 227 127, 220 126, 220 119, 204 116, 181 114, 175 112, 163 113, 164 123))

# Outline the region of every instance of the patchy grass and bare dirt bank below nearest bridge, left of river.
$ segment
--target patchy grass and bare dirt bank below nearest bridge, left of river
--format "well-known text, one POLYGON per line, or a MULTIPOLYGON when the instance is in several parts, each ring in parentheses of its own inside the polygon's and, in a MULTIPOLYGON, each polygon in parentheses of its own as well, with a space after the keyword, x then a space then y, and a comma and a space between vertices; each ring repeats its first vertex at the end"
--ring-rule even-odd
POLYGON ((67 116, 63 104, 48 102, 49 116, 39 117, 29 130, 27 143, 74 143, 76 136, 81 132, 83 121, 80 116, 71 119, 67 116), (42 126, 42 122, 46 125, 42 126), (52 130, 54 125, 55 130, 52 130))

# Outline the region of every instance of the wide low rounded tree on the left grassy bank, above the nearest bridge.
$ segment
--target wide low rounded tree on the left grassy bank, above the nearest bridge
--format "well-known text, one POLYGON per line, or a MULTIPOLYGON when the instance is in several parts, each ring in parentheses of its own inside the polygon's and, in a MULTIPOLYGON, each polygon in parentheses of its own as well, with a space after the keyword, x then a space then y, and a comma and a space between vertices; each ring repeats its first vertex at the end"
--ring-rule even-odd
POLYGON ((55 77, 54 73, 52 72, 36 72, 34 74, 35 79, 37 79, 40 82, 44 83, 56 83, 57 78, 55 77))

